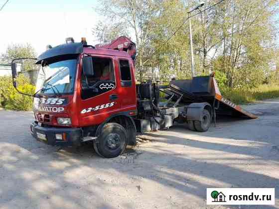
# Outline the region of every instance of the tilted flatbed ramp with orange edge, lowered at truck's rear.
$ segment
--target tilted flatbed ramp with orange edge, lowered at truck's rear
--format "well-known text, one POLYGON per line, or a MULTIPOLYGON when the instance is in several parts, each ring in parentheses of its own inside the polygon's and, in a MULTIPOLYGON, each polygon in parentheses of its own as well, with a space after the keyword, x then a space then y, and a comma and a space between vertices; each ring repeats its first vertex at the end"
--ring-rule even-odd
POLYGON ((160 91, 172 97, 173 101, 180 100, 184 104, 208 102, 215 107, 217 115, 257 118, 256 115, 224 98, 213 76, 174 80, 167 87, 160 89, 160 91))

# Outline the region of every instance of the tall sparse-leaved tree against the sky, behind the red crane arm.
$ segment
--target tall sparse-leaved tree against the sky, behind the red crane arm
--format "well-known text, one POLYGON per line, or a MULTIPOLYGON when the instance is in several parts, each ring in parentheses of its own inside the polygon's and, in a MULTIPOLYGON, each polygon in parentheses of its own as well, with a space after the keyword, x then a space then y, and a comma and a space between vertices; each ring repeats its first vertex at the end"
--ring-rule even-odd
POLYGON ((158 4, 159 0, 101 0, 101 6, 96 9, 114 24, 127 25, 127 31, 136 38, 136 67, 140 81, 143 78, 143 61, 146 59, 150 41, 151 18, 156 14, 158 4))

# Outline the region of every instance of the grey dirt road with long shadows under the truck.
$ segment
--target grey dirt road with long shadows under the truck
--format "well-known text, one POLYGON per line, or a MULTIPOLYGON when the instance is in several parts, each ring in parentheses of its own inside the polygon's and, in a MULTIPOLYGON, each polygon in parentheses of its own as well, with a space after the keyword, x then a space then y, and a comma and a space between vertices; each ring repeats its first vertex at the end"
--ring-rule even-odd
POLYGON ((279 208, 279 99, 245 108, 259 119, 176 125, 114 159, 37 142, 32 113, 0 111, 0 209, 225 208, 206 206, 209 187, 275 188, 279 208))

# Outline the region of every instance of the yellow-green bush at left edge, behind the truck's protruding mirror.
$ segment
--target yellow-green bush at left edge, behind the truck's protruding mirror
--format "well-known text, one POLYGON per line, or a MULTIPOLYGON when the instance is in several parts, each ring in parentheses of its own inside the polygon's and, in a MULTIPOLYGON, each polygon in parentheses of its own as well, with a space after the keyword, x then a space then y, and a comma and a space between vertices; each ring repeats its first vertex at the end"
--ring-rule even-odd
MULTIPOLYGON (((35 87, 28 78, 19 75, 18 90, 26 94, 34 94, 35 87)), ((19 94, 12 86, 11 76, 0 77, 0 105, 5 109, 28 111, 32 109, 33 99, 19 94)))

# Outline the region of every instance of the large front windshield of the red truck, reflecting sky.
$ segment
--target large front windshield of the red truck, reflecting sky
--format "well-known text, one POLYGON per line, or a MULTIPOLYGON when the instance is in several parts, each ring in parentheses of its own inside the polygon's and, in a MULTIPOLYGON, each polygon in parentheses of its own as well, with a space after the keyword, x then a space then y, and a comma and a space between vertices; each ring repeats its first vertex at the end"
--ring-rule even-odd
POLYGON ((74 92, 76 59, 63 60, 41 67, 36 92, 39 94, 70 94, 74 92))

